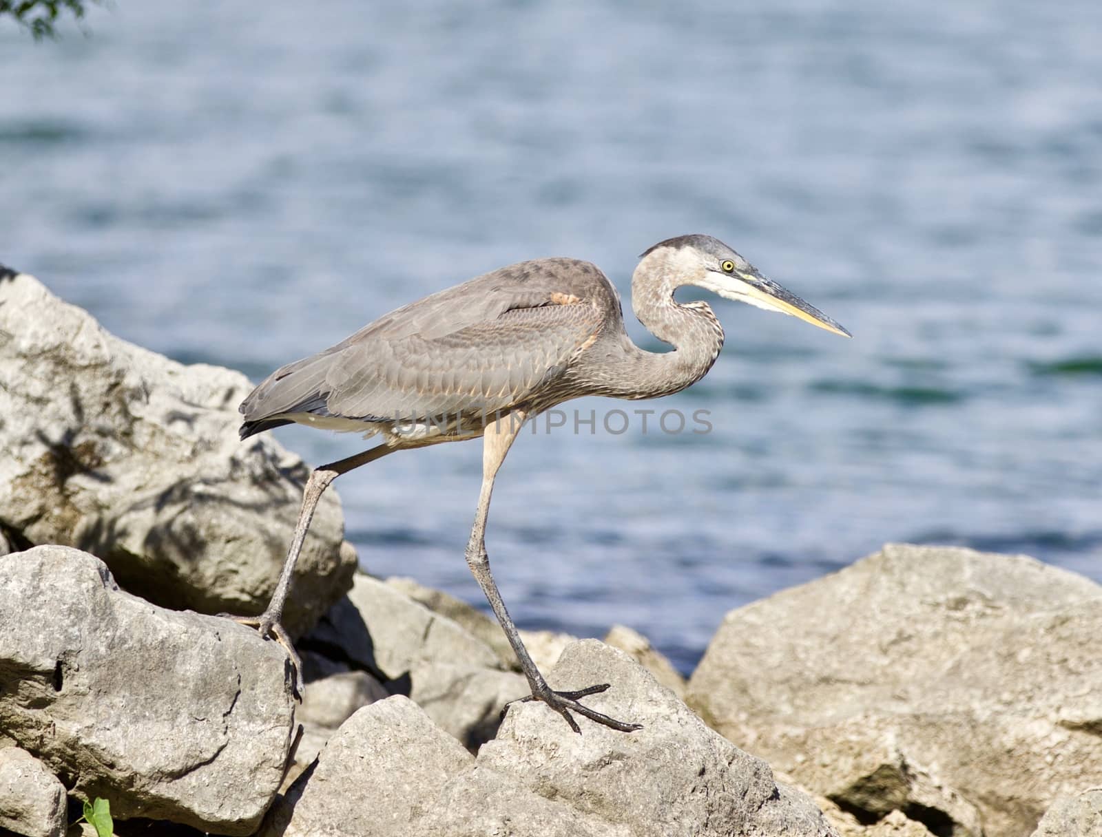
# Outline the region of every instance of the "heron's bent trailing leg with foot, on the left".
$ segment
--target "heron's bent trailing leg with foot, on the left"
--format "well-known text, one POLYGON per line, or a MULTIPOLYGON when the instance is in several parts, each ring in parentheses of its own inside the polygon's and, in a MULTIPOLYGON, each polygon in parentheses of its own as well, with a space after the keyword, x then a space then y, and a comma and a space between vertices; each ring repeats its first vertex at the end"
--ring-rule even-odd
POLYGON ((310 529, 310 522, 314 519, 317 502, 322 499, 322 494, 325 493, 325 489, 329 487, 329 483, 342 474, 375 461, 397 449, 390 445, 379 445, 361 454, 349 456, 346 459, 338 459, 335 463, 318 466, 311 471, 310 479, 306 480, 306 488, 302 492, 302 508, 299 511, 299 522, 294 526, 294 534, 291 536, 291 546, 287 552, 287 557, 283 559, 283 568, 280 570, 279 581, 276 585, 276 591, 268 602, 268 607, 264 608, 264 612, 260 616, 229 617, 236 622, 255 627, 264 639, 269 635, 273 637, 284 648, 291 661, 292 674, 294 675, 294 691, 299 697, 302 696, 303 689, 302 661, 299 659, 299 654, 291 643, 290 635, 283 628, 283 606, 287 604, 288 593, 291 589, 291 578, 294 575, 294 565, 299 561, 300 553, 302 553, 302 545, 306 541, 306 531, 310 529))

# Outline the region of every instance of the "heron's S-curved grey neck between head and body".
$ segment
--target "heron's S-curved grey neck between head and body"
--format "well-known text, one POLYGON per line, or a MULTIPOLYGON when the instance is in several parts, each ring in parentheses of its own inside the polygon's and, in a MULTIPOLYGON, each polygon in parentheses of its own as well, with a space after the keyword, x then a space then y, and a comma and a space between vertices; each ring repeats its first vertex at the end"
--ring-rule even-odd
MULTIPOLYGON (((613 380, 623 387, 618 398, 669 395, 703 378, 723 347, 723 328, 704 302, 680 304, 673 292, 689 284, 659 253, 651 253, 631 276, 631 307, 636 317, 672 351, 647 351, 624 337, 623 368, 613 380)), ((614 384, 615 385, 615 384, 614 384)))

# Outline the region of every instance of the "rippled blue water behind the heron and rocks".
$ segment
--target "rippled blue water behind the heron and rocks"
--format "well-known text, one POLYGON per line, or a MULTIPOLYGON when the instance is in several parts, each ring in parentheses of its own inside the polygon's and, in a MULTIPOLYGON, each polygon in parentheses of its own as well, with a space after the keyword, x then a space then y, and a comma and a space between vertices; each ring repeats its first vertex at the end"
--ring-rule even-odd
MULTIPOLYGON (((855 338, 714 301, 704 381, 576 402, 711 434, 523 436, 488 535, 522 626, 624 622, 690 670, 726 610, 889 540, 1102 580, 1102 6, 383 6, 0 25, 0 261, 259 379, 501 264, 626 293, 646 247, 711 232, 855 338)), ((344 477, 364 565, 479 601, 479 471, 463 444, 344 477)))

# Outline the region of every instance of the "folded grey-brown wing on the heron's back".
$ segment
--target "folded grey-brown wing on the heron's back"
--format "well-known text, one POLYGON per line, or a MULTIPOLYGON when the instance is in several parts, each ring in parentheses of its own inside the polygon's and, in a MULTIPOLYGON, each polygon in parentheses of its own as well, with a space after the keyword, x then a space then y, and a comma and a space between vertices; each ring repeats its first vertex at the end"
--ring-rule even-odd
POLYGON ((518 404, 592 340, 609 300, 604 274, 572 259, 487 273, 277 370, 241 404, 242 433, 303 412, 392 421, 518 404))

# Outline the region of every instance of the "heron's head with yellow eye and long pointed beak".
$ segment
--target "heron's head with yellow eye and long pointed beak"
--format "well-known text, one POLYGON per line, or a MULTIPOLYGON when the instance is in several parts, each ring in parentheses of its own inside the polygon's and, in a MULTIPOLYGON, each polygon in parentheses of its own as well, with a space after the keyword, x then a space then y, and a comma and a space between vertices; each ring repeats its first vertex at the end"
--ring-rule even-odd
POLYGON ((671 238, 655 244, 642 258, 651 253, 661 253, 672 262, 670 267, 683 284, 703 287, 726 300, 790 314, 843 337, 853 336, 813 305, 763 276, 757 268, 711 236, 671 238))

